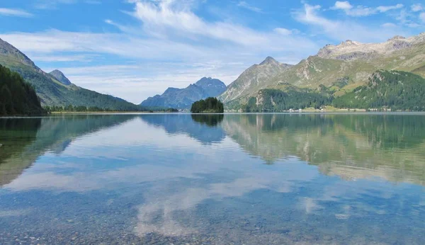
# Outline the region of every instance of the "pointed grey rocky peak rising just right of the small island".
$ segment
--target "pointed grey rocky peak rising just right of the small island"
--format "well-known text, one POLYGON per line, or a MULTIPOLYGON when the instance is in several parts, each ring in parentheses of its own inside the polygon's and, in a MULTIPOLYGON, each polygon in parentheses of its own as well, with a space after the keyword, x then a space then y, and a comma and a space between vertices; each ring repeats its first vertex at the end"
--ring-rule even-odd
POLYGON ((232 84, 227 86, 227 91, 220 96, 224 102, 233 101, 243 96, 249 96, 266 86, 266 81, 287 69, 291 64, 277 62, 272 57, 267 57, 260 64, 254 64, 246 69, 232 84))

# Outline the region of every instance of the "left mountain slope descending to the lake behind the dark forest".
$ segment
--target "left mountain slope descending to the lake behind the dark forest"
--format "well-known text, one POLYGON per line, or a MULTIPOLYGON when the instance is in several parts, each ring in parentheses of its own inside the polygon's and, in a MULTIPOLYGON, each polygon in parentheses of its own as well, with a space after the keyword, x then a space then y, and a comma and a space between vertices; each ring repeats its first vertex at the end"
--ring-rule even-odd
POLYGON ((140 110, 140 106, 71 84, 62 72, 47 74, 23 52, 0 39, 0 64, 33 85, 42 106, 88 106, 112 110, 140 110), (58 80, 59 79, 59 80, 58 80))

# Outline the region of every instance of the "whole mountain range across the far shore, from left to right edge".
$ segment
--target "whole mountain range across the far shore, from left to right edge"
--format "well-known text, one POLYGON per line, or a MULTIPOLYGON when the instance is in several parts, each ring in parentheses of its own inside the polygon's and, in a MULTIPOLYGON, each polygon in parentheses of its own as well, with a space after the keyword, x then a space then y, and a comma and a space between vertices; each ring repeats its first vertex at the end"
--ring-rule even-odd
POLYGON ((185 89, 166 89, 162 95, 149 97, 140 105, 76 86, 59 70, 46 73, 1 39, 0 64, 32 84, 42 106, 188 109, 195 101, 218 97, 227 110, 242 111, 330 105, 425 110, 414 106, 421 102, 418 96, 425 96, 425 33, 410 38, 397 35, 380 43, 346 40, 339 45, 326 45, 317 55, 295 65, 267 57, 246 69, 227 87, 218 79, 204 77, 185 89), (385 93, 373 95, 378 93, 377 89, 385 93))

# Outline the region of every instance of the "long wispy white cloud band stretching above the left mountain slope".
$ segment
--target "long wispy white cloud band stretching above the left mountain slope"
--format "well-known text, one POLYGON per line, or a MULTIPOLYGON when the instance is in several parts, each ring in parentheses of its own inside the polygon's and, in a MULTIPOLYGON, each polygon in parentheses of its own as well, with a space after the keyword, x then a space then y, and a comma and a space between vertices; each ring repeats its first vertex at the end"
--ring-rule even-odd
POLYGON ((132 38, 116 33, 75 33, 48 30, 40 33, 8 33, 4 40, 23 52, 33 54, 57 52, 97 52, 145 59, 190 57, 208 52, 196 46, 169 40, 132 38))

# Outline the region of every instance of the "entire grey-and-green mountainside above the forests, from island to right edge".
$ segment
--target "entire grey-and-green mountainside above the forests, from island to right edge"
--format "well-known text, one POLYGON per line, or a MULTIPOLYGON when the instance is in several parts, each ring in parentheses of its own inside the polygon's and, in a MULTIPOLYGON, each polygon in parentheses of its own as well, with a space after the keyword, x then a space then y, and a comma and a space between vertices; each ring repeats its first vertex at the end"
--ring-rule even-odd
POLYGON ((379 69, 425 76, 424 50, 425 33, 411 38, 395 36, 381 43, 346 40, 339 45, 327 45, 317 55, 283 70, 276 69, 274 62, 269 64, 267 72, 261 69, 261 64, 254 65, 230 84, 220 98, 227 108, 238 109, 262 89, 286 91, 288 86, 295 86, 319 92, 324 86, 334 96, 342 96, 366 84, 379 69))

